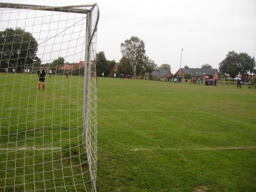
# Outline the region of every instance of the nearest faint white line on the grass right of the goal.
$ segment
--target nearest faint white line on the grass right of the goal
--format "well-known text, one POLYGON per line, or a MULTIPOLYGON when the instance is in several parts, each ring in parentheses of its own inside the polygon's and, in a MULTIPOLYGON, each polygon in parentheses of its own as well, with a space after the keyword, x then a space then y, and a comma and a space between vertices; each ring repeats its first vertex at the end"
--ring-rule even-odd
POLYGON ((236 150, 236 149, 254 149, 256 146, 247 146, 247 147, 213 147, 213 148, 134 148, 131 151, 152 151, 152 150, 164 150, 164 151, 186 151, 186 150, 193 150, 193 151, 214 151, 214 150, 236 150))

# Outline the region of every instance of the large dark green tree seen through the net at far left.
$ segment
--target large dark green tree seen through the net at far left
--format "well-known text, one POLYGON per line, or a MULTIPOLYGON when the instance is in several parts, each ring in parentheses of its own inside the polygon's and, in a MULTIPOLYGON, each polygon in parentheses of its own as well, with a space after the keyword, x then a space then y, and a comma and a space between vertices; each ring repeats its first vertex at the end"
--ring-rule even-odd
POLYGON ((0 37, 0 68, 13 66, 20 71, 24 65, 40 66, 41 59, 36 56, 38 43, 30 32, 7 28, 0 31, 0 37))

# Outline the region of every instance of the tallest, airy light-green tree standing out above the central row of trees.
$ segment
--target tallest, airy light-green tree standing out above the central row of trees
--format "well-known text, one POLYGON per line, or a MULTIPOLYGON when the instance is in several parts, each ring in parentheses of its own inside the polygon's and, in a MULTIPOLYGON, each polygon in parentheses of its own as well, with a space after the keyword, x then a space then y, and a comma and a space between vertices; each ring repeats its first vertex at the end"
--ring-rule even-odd
POLYGON ((145 60, 145 44, 143 40, 132 36, 120 45, 122 56, 127 58, 136 75, 143 71, 145 60))

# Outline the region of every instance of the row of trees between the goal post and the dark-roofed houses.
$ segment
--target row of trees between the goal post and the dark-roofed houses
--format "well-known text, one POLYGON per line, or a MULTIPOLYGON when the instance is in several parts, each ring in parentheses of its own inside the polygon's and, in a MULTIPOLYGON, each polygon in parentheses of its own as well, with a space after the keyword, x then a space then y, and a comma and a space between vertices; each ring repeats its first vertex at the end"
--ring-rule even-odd
POLYGON ((162 64, 157 67, 154 60, 145 55, 145 43, 138 37, 132 36, 130 39, 122 42, 120 51, 122 58, 119 62, 107 60, 103 51, 96 54, 97 76, 102 76, 102 73, 104 73, 104 76, 111 77, 113 77, 114 73, 125 73, 137 77, 148 73, 151 76, 151 73, 155 70, 171 70, 169 64, 162 64))

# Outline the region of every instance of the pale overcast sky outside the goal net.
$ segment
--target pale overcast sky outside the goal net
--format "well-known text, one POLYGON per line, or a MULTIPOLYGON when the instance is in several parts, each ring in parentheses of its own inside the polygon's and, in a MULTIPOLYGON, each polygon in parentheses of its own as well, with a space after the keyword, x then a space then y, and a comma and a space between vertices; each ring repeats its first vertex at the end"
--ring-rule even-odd
MULTIPOLYGON (((2 3, 21 3, 2 0, 2 3)), ((23 0, 22 4, 67 6, 98 3, 97 52, 122 57, 120 44, 131 36, 145 43, 146 55, 176 73, 210 64, 218 69, 228 51, 256 55, 255 0, 23 0)))

